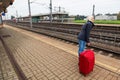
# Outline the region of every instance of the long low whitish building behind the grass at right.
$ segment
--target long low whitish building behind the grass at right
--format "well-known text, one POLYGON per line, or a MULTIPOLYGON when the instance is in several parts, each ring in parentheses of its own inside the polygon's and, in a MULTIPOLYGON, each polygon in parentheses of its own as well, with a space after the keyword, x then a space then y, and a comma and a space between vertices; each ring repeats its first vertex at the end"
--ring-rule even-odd
POLYGON ((117 15, 97 15, 96 20, 117 20, 117 15))

